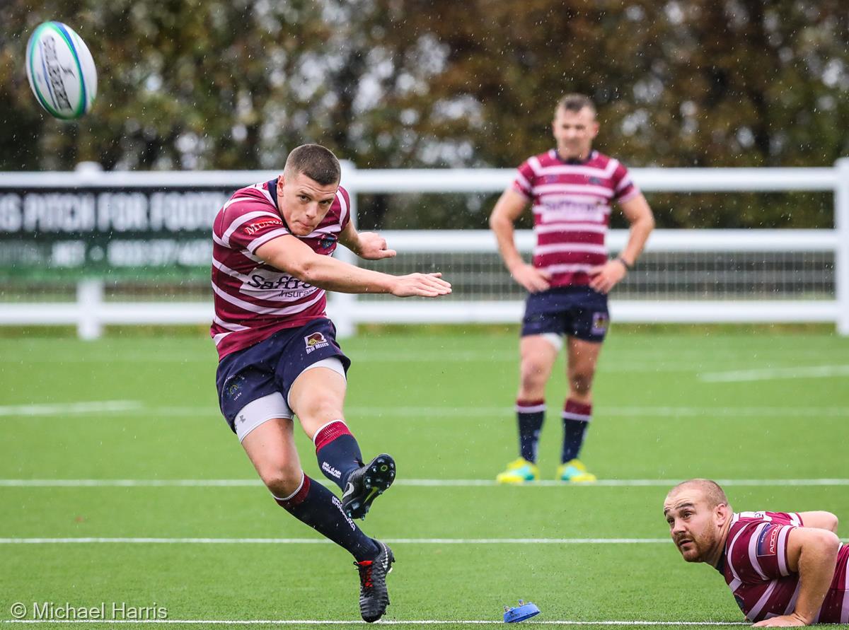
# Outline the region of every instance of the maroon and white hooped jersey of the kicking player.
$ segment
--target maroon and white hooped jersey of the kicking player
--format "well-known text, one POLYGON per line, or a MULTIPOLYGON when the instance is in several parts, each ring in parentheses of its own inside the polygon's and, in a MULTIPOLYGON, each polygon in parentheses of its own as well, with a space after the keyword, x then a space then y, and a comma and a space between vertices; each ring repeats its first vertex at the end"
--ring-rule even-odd
MULTIPOLYGON (((317 254, 330 256, 351 220, 351 200, 339 188, 327 216, 306 236, 317 254)), ((237 190, 218 211, 212 228, 212 290, 215 318, 210 329, 219 360, 253 346, 278 330, 327 317, 323 289, 293 278, 256 256, 256 249, 290 234, 277 206, 277 179, 237 190)), ((294 235, 294 234, 293 234, 294 235)))

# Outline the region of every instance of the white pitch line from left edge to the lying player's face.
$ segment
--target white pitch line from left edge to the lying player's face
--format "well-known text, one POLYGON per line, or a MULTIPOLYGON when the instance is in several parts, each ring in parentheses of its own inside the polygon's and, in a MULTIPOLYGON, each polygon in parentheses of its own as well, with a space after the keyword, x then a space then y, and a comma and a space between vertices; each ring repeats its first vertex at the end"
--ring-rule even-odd
MULTIPOLYGON (((380 538, 390 544, 672 544, 670 538, 380 538)), ((165 537, 86 537, 86 538, 0 538, 0 544, 335 544, 327 538, 165 538, 165 537)))

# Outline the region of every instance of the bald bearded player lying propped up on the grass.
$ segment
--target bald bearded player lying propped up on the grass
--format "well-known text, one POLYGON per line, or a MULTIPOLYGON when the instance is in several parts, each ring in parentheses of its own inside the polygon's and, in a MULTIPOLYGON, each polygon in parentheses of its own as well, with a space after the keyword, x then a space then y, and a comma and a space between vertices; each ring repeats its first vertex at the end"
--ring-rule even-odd
POLYGON ((663 503, 684 560, 717 569, 757 627, 849 623, 849 547, 829 512, 734 514, 714 481, 691 479, 663 503))

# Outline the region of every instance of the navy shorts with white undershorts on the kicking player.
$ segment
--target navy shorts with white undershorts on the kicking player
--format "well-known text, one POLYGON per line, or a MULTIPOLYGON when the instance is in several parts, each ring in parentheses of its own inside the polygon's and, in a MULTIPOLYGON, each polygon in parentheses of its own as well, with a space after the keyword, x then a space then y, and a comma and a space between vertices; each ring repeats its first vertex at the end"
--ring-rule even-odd
POLYGON ((267 420, 292 417, 289 390, 306 369, 327 367, 345 376, 350 366, 351 359, 336 343, 336 327, 329 319, 280 330, 218 363, 221 413, 242 441, 267 420))

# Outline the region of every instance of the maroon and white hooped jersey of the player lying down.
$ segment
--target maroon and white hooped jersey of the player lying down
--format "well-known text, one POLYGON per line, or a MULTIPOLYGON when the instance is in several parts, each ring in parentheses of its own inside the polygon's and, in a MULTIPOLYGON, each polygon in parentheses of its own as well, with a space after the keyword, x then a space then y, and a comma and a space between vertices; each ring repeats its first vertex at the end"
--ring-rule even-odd
MULTIPOLYGON (((804 524, 796 512, 741 512, 728 531, 717 569, 750 622, 796 609, 799 574, 787 566, 790 532, 804 524)), ((814 623, 849 623, 849 547, 841 545, 835 577, 814 623)))

